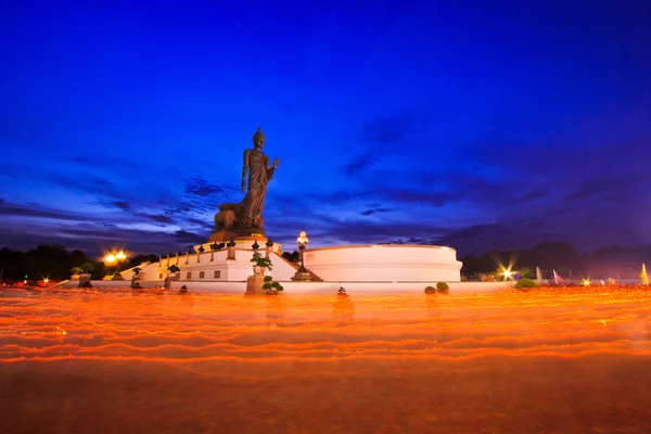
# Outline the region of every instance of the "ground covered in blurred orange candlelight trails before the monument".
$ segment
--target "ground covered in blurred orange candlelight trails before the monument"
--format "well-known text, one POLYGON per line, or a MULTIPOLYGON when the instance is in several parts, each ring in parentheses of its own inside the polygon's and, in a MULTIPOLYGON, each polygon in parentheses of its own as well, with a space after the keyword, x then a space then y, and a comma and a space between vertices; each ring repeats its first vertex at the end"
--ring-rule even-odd
POLYGON ((12 433, 648 433, 651 293, 0 292, 12 433))

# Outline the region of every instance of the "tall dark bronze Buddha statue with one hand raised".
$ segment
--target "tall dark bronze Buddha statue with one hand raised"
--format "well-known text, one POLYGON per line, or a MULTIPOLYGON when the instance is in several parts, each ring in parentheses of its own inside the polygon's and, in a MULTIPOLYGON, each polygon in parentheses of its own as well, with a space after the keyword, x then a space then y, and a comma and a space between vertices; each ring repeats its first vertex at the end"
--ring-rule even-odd
POLYGON ((244 151, 244 168, 242 170, 242 193, 246 193, 239 204, 221 204, 215 215, 215 232, 210 242, 228 241, 232 237, 263 234, 263 208, 267 195, 267 184, 273 178, 280 158, 269 166, 269 157, 263 152, 265 135, 258 127, 253 136, 253 149, 244 151), (248 174, 248 190, 246 189, 248 174))

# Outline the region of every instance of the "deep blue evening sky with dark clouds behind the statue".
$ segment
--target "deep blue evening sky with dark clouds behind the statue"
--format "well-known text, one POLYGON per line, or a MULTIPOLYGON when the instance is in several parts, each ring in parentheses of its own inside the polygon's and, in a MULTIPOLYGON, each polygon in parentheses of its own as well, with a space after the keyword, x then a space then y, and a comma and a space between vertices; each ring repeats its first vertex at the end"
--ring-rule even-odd
POLYGON ((651 242, 651 2, 204 3, 0 2, 0 246, 651 242))

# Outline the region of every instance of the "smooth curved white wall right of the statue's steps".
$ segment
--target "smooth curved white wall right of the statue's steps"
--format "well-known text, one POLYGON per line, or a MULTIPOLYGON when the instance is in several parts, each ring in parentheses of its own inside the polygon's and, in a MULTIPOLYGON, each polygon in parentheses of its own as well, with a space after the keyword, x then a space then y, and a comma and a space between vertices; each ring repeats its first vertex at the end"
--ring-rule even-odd
POLYGON ((305 267, 330 282, 459 282, 457 252, 436 245, 349 245, 305 251, 305 267))

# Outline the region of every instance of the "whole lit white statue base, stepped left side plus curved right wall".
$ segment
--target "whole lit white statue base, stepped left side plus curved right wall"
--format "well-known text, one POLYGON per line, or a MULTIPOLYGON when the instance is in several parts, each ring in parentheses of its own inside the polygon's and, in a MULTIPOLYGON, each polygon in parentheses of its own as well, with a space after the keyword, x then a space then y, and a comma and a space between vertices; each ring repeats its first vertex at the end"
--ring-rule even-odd
MULTIPOLYGON (((209 244, 195 246, 197 253, 163 257, 161 261, 144 264, 139 278, 142 281, 164 281, 167 268, 176 265, 179 282, 244 282, 253 273, 251 246, 238 245, 227 250, 210 251, 209 244), (203 246, 204 252, 200 252, 203 246)), ((281 256, 275 244, 263 255, 269 255, 273 280, 289 282, 298 265, 281 256)), ((346 245, 304 251, 305 267, 324 282, 459 282, 461 263, 454 248, 433 245, 346 245)), ((130 280, 132 271, 122 276, 130 280)))

